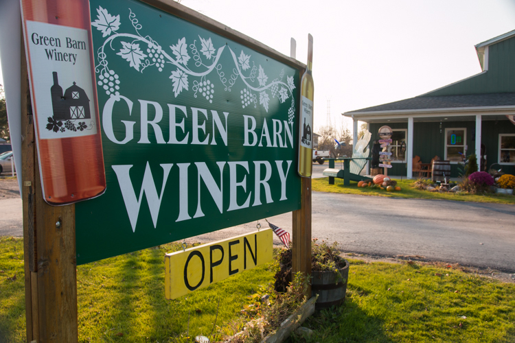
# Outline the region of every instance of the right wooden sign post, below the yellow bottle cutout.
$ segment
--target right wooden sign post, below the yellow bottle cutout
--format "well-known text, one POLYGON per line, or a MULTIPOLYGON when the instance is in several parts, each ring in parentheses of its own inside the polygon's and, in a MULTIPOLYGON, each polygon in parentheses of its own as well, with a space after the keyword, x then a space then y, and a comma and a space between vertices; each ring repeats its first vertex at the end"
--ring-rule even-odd
MULTIPOLYGON (((293 211, 292 274, 311 274, 311 178, 302 178, 301 209, 293 211)), ((293 276, 293 275, 292 275, 293 276)), ((311 286, 306 289, 311 297, 311 286)))

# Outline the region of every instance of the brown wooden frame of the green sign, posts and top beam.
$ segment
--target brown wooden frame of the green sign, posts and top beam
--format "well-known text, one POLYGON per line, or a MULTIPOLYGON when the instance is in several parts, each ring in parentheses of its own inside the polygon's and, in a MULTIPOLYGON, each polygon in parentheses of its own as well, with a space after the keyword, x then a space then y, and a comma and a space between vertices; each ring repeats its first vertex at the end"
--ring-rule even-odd
MULTIPOLYGON (((172 0, 142 0, 164 12, 225 36, 236 43, 306 70, 295 58, 172 0)), ((25 319, 27 342, 78 342, 75 205, 50 206, 43 200, 34 118, 21 36, 21 159, 25 319)), ((298 147, 297 147, 298 148, 298 147)), ((301 209, 293 211, 293 273, 311 273, 311 179, 301 178, 301 209)), ((308 298, 311 289, 306 289, 308 298)))

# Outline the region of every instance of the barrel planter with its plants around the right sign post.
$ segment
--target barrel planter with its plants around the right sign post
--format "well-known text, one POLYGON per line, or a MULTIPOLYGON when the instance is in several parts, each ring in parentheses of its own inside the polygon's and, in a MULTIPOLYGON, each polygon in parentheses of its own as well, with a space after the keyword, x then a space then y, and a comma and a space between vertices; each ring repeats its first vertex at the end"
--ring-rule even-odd
MULTIPOLYGON (((349 263, 339 256, 338 244, 325 241, 311 244, 311 293, 319 296, 316 307, 321 309, 341 305, 345 301, 349 263)), ((292 250, 283 250, 279 255, 279 271, 275 274, 275 289, 284 292, 291 282, 292 250)))

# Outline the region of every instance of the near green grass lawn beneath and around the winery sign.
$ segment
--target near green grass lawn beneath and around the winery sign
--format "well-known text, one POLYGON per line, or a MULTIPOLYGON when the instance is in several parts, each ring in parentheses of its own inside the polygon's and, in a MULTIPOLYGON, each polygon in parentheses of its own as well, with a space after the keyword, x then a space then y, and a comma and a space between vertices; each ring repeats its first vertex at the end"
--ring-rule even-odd
MULTIPOLYGON (((223 327, 240 317, 247 296, 273 281, 277 268, 277 263, 268 263, 165 300, 163 255, 177 248, 169 244, 80 265, 79 341, 192 342, 187 332, 193 337, 211 332, 218 298, 216 324, 223 327)), ((431 265, 350 263, 345 305, 314 314, 304 324, 314 334, 290 342, 515 340, 514 284, 431 265)), ((2 343, 23 342, 25 337, 23 287, 23 241, 0 237, 2 343)))

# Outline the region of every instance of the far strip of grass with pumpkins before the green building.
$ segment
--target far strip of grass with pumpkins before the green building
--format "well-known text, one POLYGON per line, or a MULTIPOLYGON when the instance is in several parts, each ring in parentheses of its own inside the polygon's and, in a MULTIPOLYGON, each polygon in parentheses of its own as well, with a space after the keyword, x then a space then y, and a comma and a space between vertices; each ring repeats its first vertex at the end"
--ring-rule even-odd
POLYGON ((388 192, 381 189, 371 189, 369 187, 358 188, 358 182, 351 181, 349 186, 343 185, 340 178, 334 179, 334 185, 329 185, 329 178, 312 179, 313 191, 343 194, 359 194, 363 196, 386 196, 397 198, 417 198, 417 199, 443 199, 472 202, 492 202, 496 204, 515 204, 515 196, 502 194, 467 194, 467 193, 438 193, 429 192, 413 188, 416 180, 396 180, 401 191, 388 192))

